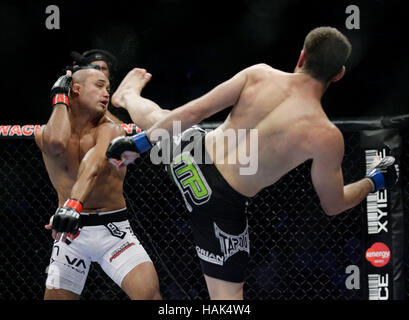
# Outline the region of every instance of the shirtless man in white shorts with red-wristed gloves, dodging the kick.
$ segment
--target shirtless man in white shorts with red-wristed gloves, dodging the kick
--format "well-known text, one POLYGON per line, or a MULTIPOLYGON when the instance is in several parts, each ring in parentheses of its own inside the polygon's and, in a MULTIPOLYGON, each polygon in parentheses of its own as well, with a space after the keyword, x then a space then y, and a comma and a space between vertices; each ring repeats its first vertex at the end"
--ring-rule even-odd
POLYGON ((91 67, 68 72, 51 96, 51 117, 35 137, 59 202, 45 226, 55 242, 44 299, 78 299, 91 262, 131 299, 160 299, 156 270, 127 220, 126 171, 105 159, 109 142, 125 134, 105 116, 108 78, 91 67))

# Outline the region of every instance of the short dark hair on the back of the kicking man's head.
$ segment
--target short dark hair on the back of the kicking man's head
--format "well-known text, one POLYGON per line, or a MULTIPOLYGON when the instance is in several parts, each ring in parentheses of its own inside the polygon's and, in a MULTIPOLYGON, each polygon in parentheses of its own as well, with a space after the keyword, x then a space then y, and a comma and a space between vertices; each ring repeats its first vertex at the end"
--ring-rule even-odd
POLYGON ((307 34, 303 49, 304 70, 315 79, 327 83, 342 70, 352 46, 336 28, 319 27, 307 34))

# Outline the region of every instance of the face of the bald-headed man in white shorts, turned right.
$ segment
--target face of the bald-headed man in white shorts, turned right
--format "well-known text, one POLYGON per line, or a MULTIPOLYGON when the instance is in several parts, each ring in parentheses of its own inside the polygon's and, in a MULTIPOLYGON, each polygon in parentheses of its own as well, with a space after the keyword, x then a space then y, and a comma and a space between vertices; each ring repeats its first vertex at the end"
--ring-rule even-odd
POLYGON ((83 108, 104 112, 109 103, 109 80, 101 71, 94 70, 81 84, 80 101, 83 108))

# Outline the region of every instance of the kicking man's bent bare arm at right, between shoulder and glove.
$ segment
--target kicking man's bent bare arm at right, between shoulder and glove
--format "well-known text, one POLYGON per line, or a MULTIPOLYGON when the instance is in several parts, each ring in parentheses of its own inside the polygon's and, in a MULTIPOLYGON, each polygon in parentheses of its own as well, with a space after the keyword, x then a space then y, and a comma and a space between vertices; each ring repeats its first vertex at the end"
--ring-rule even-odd
POLYGON ((311 178, 321 202, 328 215, 337 215, 361 203, 372 191, 367 178, 344 185, 342 160, 344 140, 341 132, 332 128, 314 148, 311 178))

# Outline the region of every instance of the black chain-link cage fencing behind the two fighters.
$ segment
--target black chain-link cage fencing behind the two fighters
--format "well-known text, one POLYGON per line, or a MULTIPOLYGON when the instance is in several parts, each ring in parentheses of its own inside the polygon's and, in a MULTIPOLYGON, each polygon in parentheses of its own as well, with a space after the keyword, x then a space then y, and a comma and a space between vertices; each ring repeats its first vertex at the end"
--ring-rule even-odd
MULTIPOLYGON (((345 183, 350 183, 362 178, 365 159, 359 134, 343 134, 342 166, 345 183)), ((403 137, 405 164, 409 134, 403 137)), ((56 210, 57 194, 33 139, 2 139, 0 145, 0 299, 39 300, 53 244, 44 225, 56 210)), ((363 299, 362 289, 347 288, 346 268, 365 259, 364 203, 334 217, 325 215, 312 187, 310 166, 310 161, 300 165, 249 201, 251 260, 245 299, 363 299)), ((409 166, 402 165, 405 199, 408 177, 409 166)), ((163 167, 151 164, 149 157, 138 159, 128 167, 124 192, 130 223, 156 267, 163 298, 208 299, 189 212, 163 167)), ((407 213, 408 201, 404 205, 407 213)), ((408 254, 405 257, 407 273, 408 254)), ((407 278, 406 284, 409 288, 407 278)), ((94 263, 82 299, 127 296, 94 263)))

